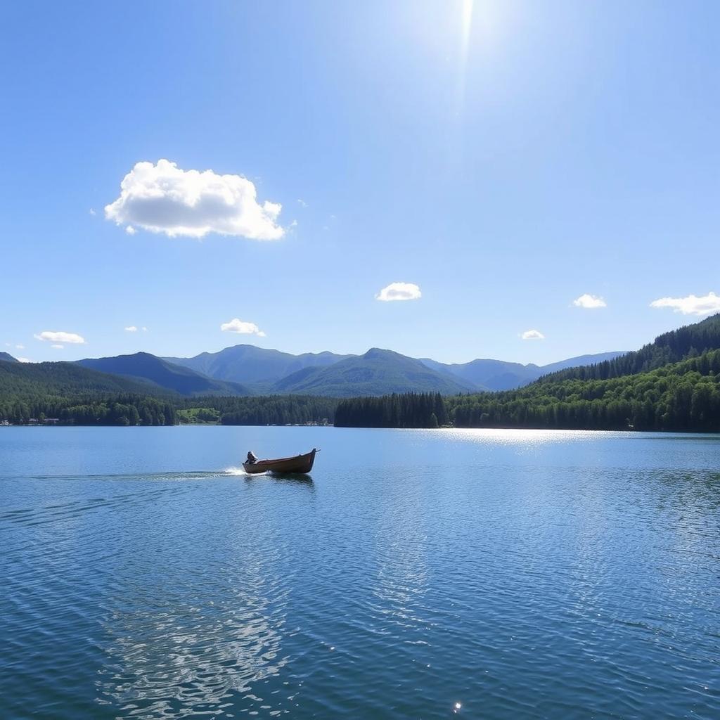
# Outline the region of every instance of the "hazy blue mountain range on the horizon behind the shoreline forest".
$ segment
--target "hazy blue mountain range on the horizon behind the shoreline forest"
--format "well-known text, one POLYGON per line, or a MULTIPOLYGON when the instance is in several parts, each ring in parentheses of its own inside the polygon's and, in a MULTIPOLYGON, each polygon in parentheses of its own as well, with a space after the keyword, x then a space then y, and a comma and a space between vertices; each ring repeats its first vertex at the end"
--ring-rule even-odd
MULTIPOLYGON (((439 392, 441 395, 512 390, 549 372, 596 364, 622 355, 621 352, 583 355, 546 366, 522 365, 500 360, 477 359, 464 364, 444 364, 431 359, 410 358, 391 350, 371 348, 363 355, 331 352, 292 355, 252 345, 237 345, 217 353, 191 358, 160 358, 139 352, 74 363, 26 364, 9 354, 0 360, 12 362, 6 372, 12 386, 24 374, 50 382, 50 375, 63 377, 69 387, 122 387, 148 395, 319 395, 359 397, 392 392, 439 392), (64 367, 62 372, 60 368, 64 367), (74 369, 71 371, 69 367, 74 369), (83 377, 80 369, 91 372, 83 377), (26 371, 27 369, 27 371, 26 371), (79 374, 78 374, 79 373, 79 374), (119 378, 124 382, 117 384, 119 378)), ((4 363, 4 365, 6 365, 4 363)), ((2 368, 0 368, 2 369, 2 368)), ((5 367, 5 370, 7 368, 5 367)), ((50 383, 53 392, 59 387, 50 383)))

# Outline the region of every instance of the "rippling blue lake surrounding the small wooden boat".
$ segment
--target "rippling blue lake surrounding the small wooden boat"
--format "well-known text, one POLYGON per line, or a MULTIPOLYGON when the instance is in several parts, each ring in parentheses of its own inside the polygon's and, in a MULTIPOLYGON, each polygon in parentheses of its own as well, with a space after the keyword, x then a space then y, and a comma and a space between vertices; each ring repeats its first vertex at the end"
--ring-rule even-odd
POLYGON ((3 718, 720 717, 720 436, 0 428, 0 498, 3 718))

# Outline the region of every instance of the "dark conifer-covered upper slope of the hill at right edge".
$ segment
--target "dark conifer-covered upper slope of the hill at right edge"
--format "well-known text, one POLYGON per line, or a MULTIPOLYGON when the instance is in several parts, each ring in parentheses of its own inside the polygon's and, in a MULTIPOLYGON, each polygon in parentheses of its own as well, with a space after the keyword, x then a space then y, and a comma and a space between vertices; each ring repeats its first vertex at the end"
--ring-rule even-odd
POLYGON ((701 323, 685 325, 655 338, 652 343, 616 359, 585 367, 561 370, 541 378, 541 382, 565 379, 606 380, 639 372, 648 372, 668 363, 701 355, 720 348, 720 314, 701 323))

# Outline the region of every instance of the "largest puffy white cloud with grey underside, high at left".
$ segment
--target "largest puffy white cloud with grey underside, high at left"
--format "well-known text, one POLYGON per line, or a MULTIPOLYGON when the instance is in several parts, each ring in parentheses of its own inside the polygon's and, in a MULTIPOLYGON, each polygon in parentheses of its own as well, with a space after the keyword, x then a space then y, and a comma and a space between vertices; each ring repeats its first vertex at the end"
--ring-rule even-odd
POLYGON ((282 205, 268 200, 259 204, 256 198, 253 182, 240 175, 181 170, 168 160, 141 162, 122 179, 120 197, 105 206, 105 217, 170 238, 202 238, 207 233, 282 238, 285 230, 276 224, 282 205))

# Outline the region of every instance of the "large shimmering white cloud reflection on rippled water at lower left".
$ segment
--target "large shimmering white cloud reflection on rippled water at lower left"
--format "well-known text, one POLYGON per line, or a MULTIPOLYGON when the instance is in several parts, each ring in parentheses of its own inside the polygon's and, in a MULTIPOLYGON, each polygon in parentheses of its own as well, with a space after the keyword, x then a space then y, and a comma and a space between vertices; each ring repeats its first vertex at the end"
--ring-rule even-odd
POLYGON ((286 664, 282 581, 260 562, 228 569, 224 588, 134 589, 135 607, 107 618, 100 703, 155 720, 222 708, 286 664), (210 600, 210 598, 213 598, 210 600), (144 599, 144 601, 143 601, 144 599))

